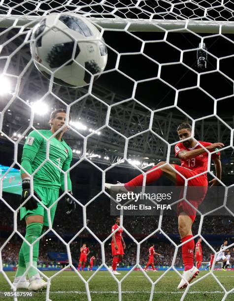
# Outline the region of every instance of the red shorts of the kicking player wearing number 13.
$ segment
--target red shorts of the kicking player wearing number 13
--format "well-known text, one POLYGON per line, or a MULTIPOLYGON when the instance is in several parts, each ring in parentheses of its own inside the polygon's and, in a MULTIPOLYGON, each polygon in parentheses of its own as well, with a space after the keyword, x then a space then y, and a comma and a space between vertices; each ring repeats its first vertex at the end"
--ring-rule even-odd
MULTIPOLYGON (((191 177, 198 175, 196 172, 194 172, 193 170, 190 170, 188 168, 185 168, 185 167, 182 167, 179 165, 174 165, 174 166, 175 166, 175 169, 181 175, 183 175, 186 179, 189 179, 191 177)), ((180 175, 176 174, 176 180, 177 180, 177 182, 176 182, 177 186, 184 186, 185 181, 180 175)), ((196 209, 198 209, 199 205, 205 198, 207 188, 208 188, 208 181, 207 181, 206 174, 196 177, 192 180, 189 180, 188 186, 199 186, 199 188, 196 190, 193 190, 193 189, 187 190, 188 191, 187 201, 189 201, 189 203, 191 203, 196 209), (194 200, 193 200, 193 192, 196 192, 195 193, 196 197, 194 200)), ((181 193, 181 198, 182 197, 183 197, 183 191, 181 193)), ((179 215, 180 212, 185 212, 189 215, 189 217, 194 222, 197 211, 194 208, 192 208, 189 203, 187 203, 186 201, 180 201, 177 204, 177 215, 179 215)))

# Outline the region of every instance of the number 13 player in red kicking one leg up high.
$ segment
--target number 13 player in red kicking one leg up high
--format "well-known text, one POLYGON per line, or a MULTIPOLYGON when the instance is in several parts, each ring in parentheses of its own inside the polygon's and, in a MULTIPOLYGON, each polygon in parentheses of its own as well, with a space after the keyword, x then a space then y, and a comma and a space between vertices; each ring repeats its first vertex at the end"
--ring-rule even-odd
MULTIPOLYGON (((215 165, 216 178, 221 180, 222 168, 218 149, 224 147, 224 145, 220 142, 211 144, 209 142, 199 141, 204 149, 201 148, 200 144, 193 137, 191 137, 192 127, 188 123, 181 123, 177 128, 177 133, 180 140, 188 139, 175 145, 175 156, 181 160, 181 165, 179 166, 176 164, 167 164, 167 162, 159 162, 147 172, 146 185, 157 181, 160 177, 162 177, 162 175, 165 175, 168 179, 175 183, 176 186, 184 186, 184 178, 190 179, 195 177, 187 181, 187 185, 188 187, 199 187, 196 191, 196 194, 199 193, 200 196, 196 200, 188 199, 188 201, 195 208, 198 208, 205 197, 208 186, 206 174, 208 165, 208 152, 216 151, 216 153, 212 154, 211 158, 215 165), (184 178, 177 174, 175 170, 184 178)), ((136 186, 142 186, 142 183, 143 174, 123 184, 105 183, 105 188, 116 193, 127 193, 128 191, 133 190, 136 186)), ((218 185, 219 181, 213 179, 210 181, 210 183, 211 186, 214 186, 218 185)), ((199 273, 199 270, 194 266, 195 243, 192 235, 192 225, 196 217, 196 212, 197 211, 193 209, 190 204, 183 200, 177 204, 178 230, 183 243, 182 259, 184 263, 184 272, 177 287, 178 289, 185 288, 187 283, 190 283, 199 273)))

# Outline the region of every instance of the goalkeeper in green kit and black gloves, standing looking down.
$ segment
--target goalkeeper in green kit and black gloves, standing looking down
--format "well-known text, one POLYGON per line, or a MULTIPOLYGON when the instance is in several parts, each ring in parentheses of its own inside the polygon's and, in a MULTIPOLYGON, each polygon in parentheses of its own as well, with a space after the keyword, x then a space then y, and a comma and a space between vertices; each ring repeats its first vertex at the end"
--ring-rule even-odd
MULTIPOLYGON (((51 129, 38 130, 38 132, 32 131, 24 145, 21 162, 21 166, 24 169, 21 170, 23 189, 21 203, 26 200, 27 202, 20 209, 20 219, 26 220, 25 239, 31 244, 38 239, 40 235, 44 233, 46 227, 49 226, 47 214, 50 214, 53 224, 57 207, 57 203, 55 202, 59 198, 59 189, 62 188, 63 191, 65 190, 66 174, 62 173, 58 167, 66 172, 70 167, 72 159, 72 151, 62 138, 63 134, 67 131, 67 126, 61 129, 65 124, 66 115, 66 111, 63 109, 53 111, 50 117, 51 129), (57 132, 56 136, 48 140, 55 132, 57 132), (47 144, 49 144, 50 161, 45 161, 47 144), (30 176, 37 168, 38 170, 33 175, 32 182, 30 176), (31 185, 33 185, 34 197, 29 197, 31 185), (50 211, 47 211, 36 199, 41 201, 47 208, 55 204, 51 207, 50 211)), ((72 192, 69 173, 67 173, 67 191, 68 194, 66 194, 64 199, 68 206, 66 213, 69 215, 75 210, 75 201, 71 197, 72 192)), ((33 244, 33 267, 31 266, 28 270, 28 281, 26 275, 23 277, 22 275, 30 266, 30 246, 27 242, 23 241, 19 252, 19 265, 13 283, 15 287, 27 288, 33 291, 46 287, 47 282, 41 279, 36 269, 38 251, 39 241, 33 244)))

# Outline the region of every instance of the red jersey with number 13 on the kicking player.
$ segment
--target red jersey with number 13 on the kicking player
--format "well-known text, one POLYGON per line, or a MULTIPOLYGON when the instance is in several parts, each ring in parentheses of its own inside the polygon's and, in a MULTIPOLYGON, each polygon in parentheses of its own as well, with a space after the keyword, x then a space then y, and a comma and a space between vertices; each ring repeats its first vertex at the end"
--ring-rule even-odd
MULTIPOLYGON (((212 144, 210 142, 202 142, 202 141, 199 141, 199 143, 204 147, 207 147, 212 144)), ((198 143, 193 148, 186 148, 183 145, 183 143, 179 142, 175 145, 175 156, 177 156, 178 153, 183 150, 192 151, 192 150, 197 150, 197 149, 201 149, 201 146, 198 143)), ((213 158, 217 157, 218 155, 220 155, 220 152, 213 153, 211 155, 211 158, 213 159, 213 158)), ((181 160, 182 167, 193 170, 198 174, 201 174, 204 171, 207 171, 208 152, 206 152, 206 151, 204 151, 201 155, 198 155, 195 158, 188 159, 188 160, 182 160, 182 159, 180 159, 180 160, 181 160)))

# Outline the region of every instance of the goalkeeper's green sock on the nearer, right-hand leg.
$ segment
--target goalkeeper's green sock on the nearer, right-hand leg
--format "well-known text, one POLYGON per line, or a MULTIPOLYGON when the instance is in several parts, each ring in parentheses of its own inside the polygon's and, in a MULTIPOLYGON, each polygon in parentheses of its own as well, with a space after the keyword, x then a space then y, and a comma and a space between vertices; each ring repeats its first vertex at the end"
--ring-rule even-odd
MULTIPOLYGON (((41 223, 32 223, 29 224, 26 227, 26 235, 25 239, 29 241, 29 243, 33 243, 38 237, 41 235, 43 225, 41 223)), ((28 268, 30 265, 30 246, 27 244, 27 242, 23 242, 22 244, 23 254, 24 254, 24 260, 25 265, 28 268)), ((38 253, 39 253, 39 241, 33 244, 33 267, 31 267, 28 271, 28 276, 31 278, 33 275, 37 274, 38 271, 36 268, 36 263, 38 259, 38 253), (35 268, 34 268, 35 267, 35 268)))

